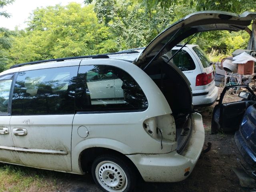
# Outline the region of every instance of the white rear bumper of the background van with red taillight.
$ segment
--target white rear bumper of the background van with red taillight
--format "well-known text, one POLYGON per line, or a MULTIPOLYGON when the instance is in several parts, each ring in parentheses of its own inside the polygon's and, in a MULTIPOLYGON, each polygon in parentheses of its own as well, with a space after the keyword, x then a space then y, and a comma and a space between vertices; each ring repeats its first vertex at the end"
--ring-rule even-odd
POLYGON ((214 87, 214 91, 209 95, 200 95, 200 96, 193 96, 193 101, 192 103, 194 106, 210 106, 214 104, 214 102, 218 98, 218 87, 214 87))

